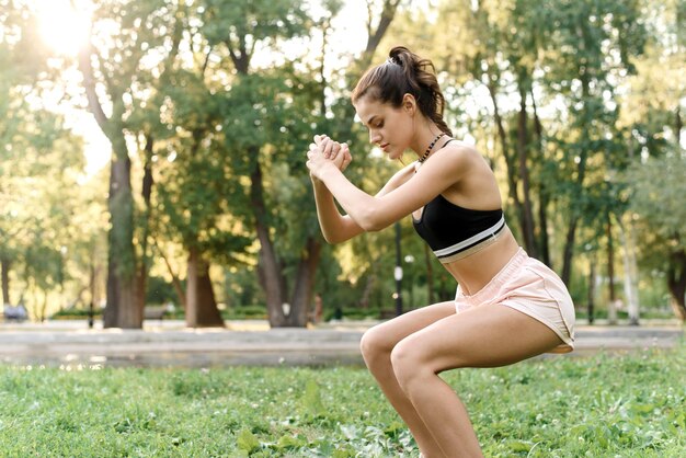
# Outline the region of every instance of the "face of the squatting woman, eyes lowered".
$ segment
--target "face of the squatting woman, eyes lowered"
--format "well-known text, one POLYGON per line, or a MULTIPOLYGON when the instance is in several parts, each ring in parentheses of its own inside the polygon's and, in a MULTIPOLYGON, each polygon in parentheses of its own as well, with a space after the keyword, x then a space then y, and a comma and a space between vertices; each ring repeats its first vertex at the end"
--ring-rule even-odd
POLYGON ((369 142, 377 145, 389 159, 399 159, 414 135, 414 108, 410 102, 399 108, 363 96, 355 103, 357 116, 369 130, 369 142))

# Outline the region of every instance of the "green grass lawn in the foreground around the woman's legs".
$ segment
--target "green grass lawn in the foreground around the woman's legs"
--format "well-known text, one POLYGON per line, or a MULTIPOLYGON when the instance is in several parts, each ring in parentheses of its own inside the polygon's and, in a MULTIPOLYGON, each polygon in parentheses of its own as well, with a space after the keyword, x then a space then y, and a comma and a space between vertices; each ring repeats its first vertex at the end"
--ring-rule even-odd
MULTIPOLYGON (((686 345, 445 375, 488 457, 686 456, 686 345)), ((363 368, 0 366, 2 457, 416 457, 363 368)))

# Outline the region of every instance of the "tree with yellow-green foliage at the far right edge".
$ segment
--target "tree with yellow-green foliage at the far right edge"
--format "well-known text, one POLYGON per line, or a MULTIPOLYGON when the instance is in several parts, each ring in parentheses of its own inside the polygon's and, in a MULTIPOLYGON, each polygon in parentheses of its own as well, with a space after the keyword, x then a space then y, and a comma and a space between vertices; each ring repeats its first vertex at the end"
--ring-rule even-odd
MULTIPOLYGON (((672 201, 678 201, 678 194, 673 193, 683 192, 684 181, 685 9, 682 0, 644 5, 643 18, 650 33, 647 53, 632 59, 637 72, 625 83, 618 123, 630 161, 629 171, 618 180, 628 191, 624 193, 630 209, 625 218, 626 232, 637 239, 643 267, 666 274, 674 310, 682 319, 686 282, 681 233, 683 205, 672 201), (658 203, 658 195, 664 195, 665 202, 658 203)), ((631 283, 636 284, 637 278, 631 278, 631 283)))

